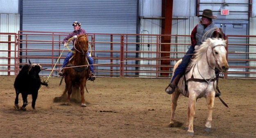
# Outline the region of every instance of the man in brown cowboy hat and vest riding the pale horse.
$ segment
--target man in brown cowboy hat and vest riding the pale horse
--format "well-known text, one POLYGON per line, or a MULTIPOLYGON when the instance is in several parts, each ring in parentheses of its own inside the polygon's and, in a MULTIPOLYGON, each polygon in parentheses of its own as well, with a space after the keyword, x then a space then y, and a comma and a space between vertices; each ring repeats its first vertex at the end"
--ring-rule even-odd
MULTIPOLYGON (((181 64, 175 70, 170 84, 165 89, 165 92, 168 94, 172 94, 175 88, 177 87, 179 79, 184 74, 184 71, 186 70, 188 63, 190 62, 190 58, 193 56, 193 53, 195 51, 195 46, 201 45, 202 42, 204 42, 207 38, 215 38, 219 36, 219 33, 221 33, 220 29, 215 29, 215 30, 213 29, 213 28, 217 28, 217 26, 212 21, 212 19, 217 19, 216 16, 213 16, 213 11, 211 11, 210 9, 205 9, 203 11, 203 14, 199 15, 198 17, 202 17, 202 18, 200 20, 200 23, 197 24, 194 27, 193 31, 191 32, 191 35, 190 35, 191 46, 188 49, 186 55, 182 58, 181 64)), ((216 93, 216 96, 220 96, 220 94, 216 93)))

